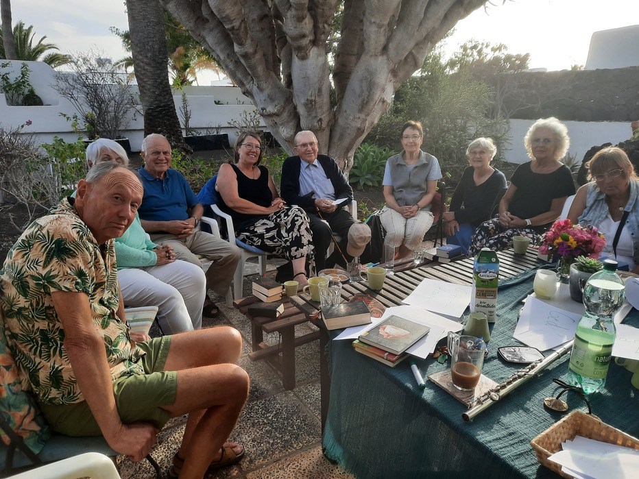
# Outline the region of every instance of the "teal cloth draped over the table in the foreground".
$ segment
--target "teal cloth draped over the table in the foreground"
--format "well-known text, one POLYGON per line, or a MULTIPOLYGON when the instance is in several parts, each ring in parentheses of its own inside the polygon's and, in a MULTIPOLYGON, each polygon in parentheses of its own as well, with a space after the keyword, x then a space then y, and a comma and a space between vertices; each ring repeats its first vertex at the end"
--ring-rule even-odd
MULTIPOLYGON (((521 300, 532 292, 535 271, 500 285, 498 320, 492 330, 486 376, 501 382, 518 369, 497 357, 498 346, 512 339, 521 300)), ((639 312, 625 321, 639 326, 639 312)), ((421 391, 408 362, 390 368, 355 352, 350 341, 331 341, 330 406, 324 452, 358 478, 546 478, 558 477, 537 462, 530 441, 562 414, 546 410, 545 397, 557 395, 553 378, 566 380, 568 358, 556 361, 470 422, 465 406, 426 380, 421 391)), ((426 378, 449 365, 432 358, 416 363, 426 378)), ((639 436, 639 391, 631 373, 614 363, 602 393, 590 395, 592 412, 603 421, 639 436)), ((564 395, 566 397, 566 395, 564 395)), ((586 411, 568 393, 570 410, 586 411)))

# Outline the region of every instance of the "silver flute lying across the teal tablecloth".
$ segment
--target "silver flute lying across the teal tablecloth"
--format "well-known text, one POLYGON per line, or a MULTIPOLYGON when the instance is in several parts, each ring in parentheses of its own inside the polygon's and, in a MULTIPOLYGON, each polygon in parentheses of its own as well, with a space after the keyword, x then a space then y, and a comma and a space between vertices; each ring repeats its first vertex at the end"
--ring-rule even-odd
POLYGON ((549 354, 545 358, 536 360, 534 363, 519 369, 507 380, 497 384, 490 391, 487 391, 483 395, 477 397, 477 399, 470 404, 470 408, 466 411, 466 413, 461 415, 461 419, 464 421, 470 421, 483 410, 490 408, 490 406, 501 400, 502 397, 511 393, 511 391, 517 389, 531 378, 537 376, 540 371, 543 371, 557 359, 570 352, 573 341, 569 341, 563 347, 560 347, 557 351, 553 352, 553 354, 549 354))

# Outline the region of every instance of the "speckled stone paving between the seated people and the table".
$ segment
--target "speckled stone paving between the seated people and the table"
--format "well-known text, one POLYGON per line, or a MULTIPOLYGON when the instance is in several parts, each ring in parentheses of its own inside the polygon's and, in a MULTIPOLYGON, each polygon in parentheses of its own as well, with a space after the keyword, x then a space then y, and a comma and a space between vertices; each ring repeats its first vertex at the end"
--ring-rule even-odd
MULTIPOLYGON (((269 269, 273 261, 269 260, 269 269)), ((245 290, 250 281, 245 279, 245 290)), ((207 478, 245 479, 341 479, 354 478, 331 464, 322 455, 319 422, 319 342, 298 347, 296 352, 296 388, 285 391, 275 369, 248 358, 250 352, 250 322, 234 308, 228 308, 221 297, 213 297, 221 315, 217 319, 204 318, 204 327, 223 324, 234 326, 244 338, 240 365, 251 378, 250 397, 239 417, 230 439, 242 443, 246 455, 238 465, 221 469, 207 478)), ((309 326, 298 326, 304 334, 309 326)), ((153 334, 152 334, 153 335, 153 334)), ((276 335, 265 340, 276 343, 276 335)), ((162 474, 171 464, 184 432, 186 416, 173 419, 158 437, 152 456, 158 461, 162 474)), ((119 458, 123 479, 151 479, 154 471, 147 461, 133 463, 119 458)))

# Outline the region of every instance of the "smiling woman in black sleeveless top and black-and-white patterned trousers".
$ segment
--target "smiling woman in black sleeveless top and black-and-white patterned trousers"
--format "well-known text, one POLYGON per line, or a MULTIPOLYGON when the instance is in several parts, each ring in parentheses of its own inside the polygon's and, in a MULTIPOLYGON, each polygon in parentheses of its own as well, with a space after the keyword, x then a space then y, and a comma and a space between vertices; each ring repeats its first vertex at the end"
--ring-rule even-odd
POLYGON ((235 164, 222 164, 215 189, 219 208, 233 219, 235 235, 244 243, 291 261, 293 278, 308 282, 306 262, 313 273, 313 244, 309 217, 302 208, 280 198, 273 177, 260 166, 262 139, 254 132, 239 134, 235 164))

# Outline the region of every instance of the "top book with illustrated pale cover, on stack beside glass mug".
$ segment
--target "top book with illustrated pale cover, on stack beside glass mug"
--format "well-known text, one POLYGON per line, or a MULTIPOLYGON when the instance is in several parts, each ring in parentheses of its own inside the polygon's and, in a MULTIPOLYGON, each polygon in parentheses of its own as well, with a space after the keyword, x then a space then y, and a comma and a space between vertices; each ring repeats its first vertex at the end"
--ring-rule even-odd
POLYGON ((391 315, 370 330, 360 334, 358 339, 362 343, 385 351, 402 354, 419 339, 426 336, 430 330, 429 326, 391 315))

